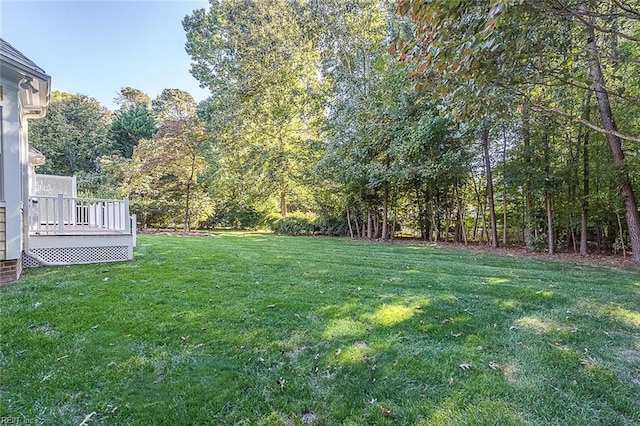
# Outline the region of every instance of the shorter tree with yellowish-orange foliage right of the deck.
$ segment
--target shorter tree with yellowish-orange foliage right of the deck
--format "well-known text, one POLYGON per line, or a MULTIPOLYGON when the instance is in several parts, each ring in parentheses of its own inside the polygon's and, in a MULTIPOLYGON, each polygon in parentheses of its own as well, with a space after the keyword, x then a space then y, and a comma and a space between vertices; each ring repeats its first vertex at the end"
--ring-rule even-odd
POLYGON ((153 106, 159 130, 134 148, 125 190, 145 225, 181 221, 188 232, 211 213, 211 201, 199 184, 207 170, 209 140, 189 93, 165 89, 153 106))

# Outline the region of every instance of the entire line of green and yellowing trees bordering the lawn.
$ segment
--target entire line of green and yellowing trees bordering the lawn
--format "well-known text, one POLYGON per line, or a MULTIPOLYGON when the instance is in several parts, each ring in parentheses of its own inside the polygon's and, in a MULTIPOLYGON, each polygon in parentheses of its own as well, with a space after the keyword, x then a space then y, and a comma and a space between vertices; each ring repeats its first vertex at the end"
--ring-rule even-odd
POLYGON ((223 0, 199 104, 54 93, 44 172, 143 226, 524 243, 640 260, 640 10, 623 0, 223 0))

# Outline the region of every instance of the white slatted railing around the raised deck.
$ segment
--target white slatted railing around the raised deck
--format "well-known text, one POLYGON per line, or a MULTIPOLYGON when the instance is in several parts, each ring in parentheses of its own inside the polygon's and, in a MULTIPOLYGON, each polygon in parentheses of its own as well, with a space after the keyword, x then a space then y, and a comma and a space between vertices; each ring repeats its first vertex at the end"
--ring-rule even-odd
MULTIPOLYGON (((135 226, 135 225, 133 225, 135 226)), ((131 233, 129 199, 29 197, 29 231, 32 234, 131 233)))

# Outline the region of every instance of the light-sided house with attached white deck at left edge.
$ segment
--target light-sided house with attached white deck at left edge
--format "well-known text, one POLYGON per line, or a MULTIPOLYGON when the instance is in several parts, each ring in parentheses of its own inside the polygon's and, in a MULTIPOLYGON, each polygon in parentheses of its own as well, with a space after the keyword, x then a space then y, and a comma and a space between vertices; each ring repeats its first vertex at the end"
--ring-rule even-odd
POLYGON ((123 200, 77 198, 75 178, 35 173, 28 123, 45 116, 51 77, 0 38, 0 285, 23 266, 129 260, 135 215, 123 200))

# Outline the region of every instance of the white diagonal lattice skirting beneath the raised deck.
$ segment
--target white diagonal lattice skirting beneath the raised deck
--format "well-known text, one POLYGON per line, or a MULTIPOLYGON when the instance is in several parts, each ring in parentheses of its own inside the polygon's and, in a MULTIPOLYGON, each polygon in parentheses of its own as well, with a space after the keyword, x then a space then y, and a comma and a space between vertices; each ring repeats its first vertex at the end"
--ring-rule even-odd
MULTIPOLYGON (((52 264, 73 265, 129 260, 127 246, 40 248, 32 249, 31 252, 46 263, 52 264)), ((22 264, 25 268, 44 266, 38 259, 28 254, 24 255, 22 264)))

